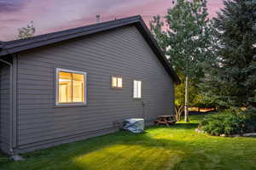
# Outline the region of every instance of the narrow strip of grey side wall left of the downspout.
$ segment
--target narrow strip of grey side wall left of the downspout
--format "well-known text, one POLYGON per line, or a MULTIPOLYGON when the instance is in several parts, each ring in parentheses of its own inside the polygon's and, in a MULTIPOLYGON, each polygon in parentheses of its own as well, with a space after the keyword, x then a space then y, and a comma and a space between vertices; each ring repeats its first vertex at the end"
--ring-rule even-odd
POLYGON ((0 63, 0 149, 9 153, 10 144, 10 69, 0 63))

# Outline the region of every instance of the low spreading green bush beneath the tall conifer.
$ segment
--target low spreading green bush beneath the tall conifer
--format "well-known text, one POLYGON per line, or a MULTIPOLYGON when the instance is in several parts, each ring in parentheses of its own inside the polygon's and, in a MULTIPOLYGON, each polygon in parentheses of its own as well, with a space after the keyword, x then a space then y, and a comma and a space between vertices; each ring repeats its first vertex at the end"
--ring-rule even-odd
POLYGON ((225 110, 206 116, 200 123, 202 131, 214 136, 256 132, 256 113, 253 111, 225 110))

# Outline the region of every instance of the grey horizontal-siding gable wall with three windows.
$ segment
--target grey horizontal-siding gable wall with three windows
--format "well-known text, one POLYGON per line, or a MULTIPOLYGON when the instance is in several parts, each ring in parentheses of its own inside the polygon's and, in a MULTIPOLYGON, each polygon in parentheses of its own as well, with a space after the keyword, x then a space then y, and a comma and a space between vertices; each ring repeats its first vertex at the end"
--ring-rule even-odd
POLYGON ((17 59, 20 152, 113 132, 114 122, 125 118, 152 122, 173 114, 172 78, 135 26, 35 48, 17 59), (56 68, 87 73, 87 105, 55 106, 56 68), (112 76, 123 78, 122 89, 111 88, 112 76), (132 98, 133 80, 142 81, 142 100, 132 98))

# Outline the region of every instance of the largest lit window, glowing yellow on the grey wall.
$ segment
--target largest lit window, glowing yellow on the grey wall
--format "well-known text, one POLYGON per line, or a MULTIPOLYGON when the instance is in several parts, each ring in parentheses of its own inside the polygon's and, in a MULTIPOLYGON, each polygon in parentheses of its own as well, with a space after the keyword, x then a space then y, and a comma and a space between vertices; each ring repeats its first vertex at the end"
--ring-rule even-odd
POLYGON ((56 105, 85 104, 86 73, 57 69, 56 105))

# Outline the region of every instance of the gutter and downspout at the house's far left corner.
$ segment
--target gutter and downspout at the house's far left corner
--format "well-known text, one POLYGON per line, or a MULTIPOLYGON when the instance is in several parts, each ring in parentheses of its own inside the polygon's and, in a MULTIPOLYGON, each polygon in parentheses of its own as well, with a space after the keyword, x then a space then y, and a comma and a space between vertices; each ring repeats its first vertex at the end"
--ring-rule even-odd
MULTIPOLYGON (((3 42, 0 42, 0 50, 5 50, 7 51, 7 53, 14 57, 12 54, 9 53, 9 51, 4 48, 3 46, 3 42)), ((9 100, 10 100, 10 113, 9 113, 9 151, 10 151, 10 155, 14 156, 14 149, 13 149, 13 64, 9 63, 8 61, 4 60, 4 59, 0 59, 0 62, 4 63, 5 65, 9 65, 9 81, 10 81, 10 90, 9 90, 9 100)))

